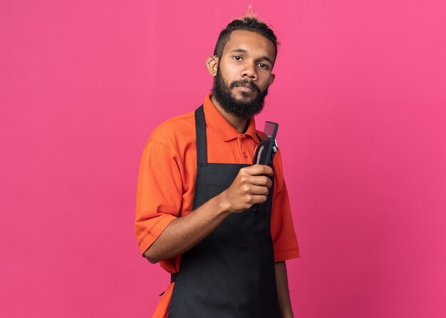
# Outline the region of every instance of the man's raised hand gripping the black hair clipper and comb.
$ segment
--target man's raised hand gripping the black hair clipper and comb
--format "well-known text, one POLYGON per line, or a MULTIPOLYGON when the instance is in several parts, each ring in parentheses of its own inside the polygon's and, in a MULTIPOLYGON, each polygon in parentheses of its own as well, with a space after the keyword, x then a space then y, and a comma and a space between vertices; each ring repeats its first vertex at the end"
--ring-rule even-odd
POLYGON ((240 169, 231 186, 220 194, 224 209, 239 213, 256 203, 264 203, 273 184, 269 176, 273 174, 273 169, 263 164, 240 169))

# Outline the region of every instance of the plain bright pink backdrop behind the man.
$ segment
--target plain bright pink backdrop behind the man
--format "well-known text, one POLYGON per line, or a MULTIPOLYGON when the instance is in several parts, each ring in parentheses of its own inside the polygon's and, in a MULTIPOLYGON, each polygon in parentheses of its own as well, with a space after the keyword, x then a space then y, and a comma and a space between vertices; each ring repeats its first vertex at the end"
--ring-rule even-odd
MULTIPOLYGON (((1 1, 0 317, 150 317, 142 147, 251 1, 1 1)), ((444 1, 255 1, 279 40, 296 317, 446 317, 444 1)), ((261 126, 261 125, 259 125, 261 126)))

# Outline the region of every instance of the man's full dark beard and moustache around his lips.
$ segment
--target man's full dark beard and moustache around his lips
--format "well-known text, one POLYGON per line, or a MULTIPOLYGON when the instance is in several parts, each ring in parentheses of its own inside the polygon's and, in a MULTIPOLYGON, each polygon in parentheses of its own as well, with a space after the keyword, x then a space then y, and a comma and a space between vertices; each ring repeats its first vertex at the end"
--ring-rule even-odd
POLYGON ((226 112, 229 112, 229 114, 242 120, 249 120, 263 110, 266 95, 268 95, 268 88, 261 92, 256 84, 247 79, 235 80, 228 85, 224 80, 222 73, 220 73, 217 68, 217 75, 215 76, 214 85, 212 86, 212 96, 219 102, 226 112), (247 100, 249 92, 242 92, 243 99, 237 100, 237 98, 232 95, 231 90, 241 85, 249 85, 249 87, 256 92, 256 97, 254 97, 253 100, 247 100))

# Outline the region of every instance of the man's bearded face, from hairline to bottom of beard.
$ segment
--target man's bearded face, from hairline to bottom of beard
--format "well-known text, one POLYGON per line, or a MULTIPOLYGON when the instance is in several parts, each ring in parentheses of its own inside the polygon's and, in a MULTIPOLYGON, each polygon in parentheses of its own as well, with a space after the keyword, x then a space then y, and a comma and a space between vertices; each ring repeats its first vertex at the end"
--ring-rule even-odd
POLYGON ((224 46, 214 73, 213 96, 233 115, 249 119, 261 112, 271 73, 274 44, 259 33, 236 30, 224 46))

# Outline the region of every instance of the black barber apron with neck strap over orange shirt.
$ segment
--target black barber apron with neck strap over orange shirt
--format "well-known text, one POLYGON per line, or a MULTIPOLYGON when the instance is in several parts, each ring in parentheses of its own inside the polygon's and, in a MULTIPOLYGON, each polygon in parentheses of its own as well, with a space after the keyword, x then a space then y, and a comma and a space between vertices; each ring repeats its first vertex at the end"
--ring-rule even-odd
MULTIPOLYGON (((192 211, 227 189, 249 164, 209 164, 203 106, 195 111, 197 176, 192 211)), ((233 213, 182 255, 167 317, 280 317, 268 199, 233 213)))

